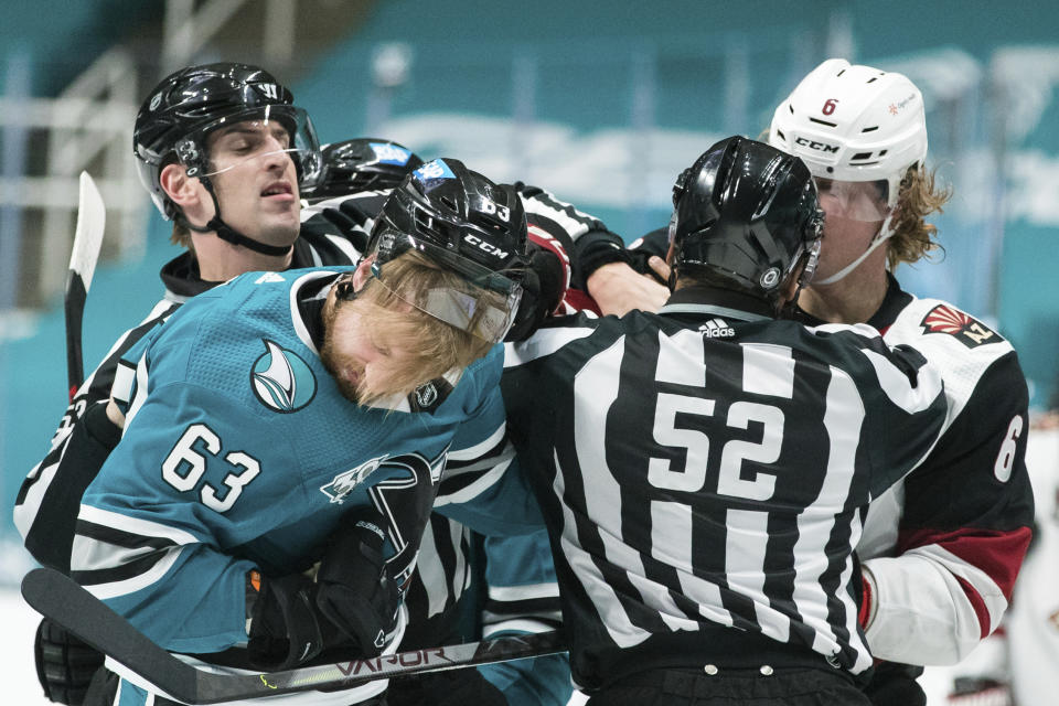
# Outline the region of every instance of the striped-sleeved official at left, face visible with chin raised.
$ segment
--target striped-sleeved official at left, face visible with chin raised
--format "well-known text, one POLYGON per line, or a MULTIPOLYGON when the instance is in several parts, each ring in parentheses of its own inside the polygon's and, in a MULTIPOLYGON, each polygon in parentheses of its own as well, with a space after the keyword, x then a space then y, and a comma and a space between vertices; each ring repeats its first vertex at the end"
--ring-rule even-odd
POLYGON ((320 147, 304 110, 261 68, 208 64, 167 76, 143 101, 132 143, 141 182, 173 221, 173 242, 188 249, 162 268, 164 297, 74 395, 51 452, 20 490, 14 517, 26 548, 62 570, 68 568, 81 492, 95 471, 88 466, 106 456, 119 434, 107 428, 105 403, 124 352, 184 301, 236 275, 354 265, 359 256, 344 237, 308 228, 299 237, 299 189, 319 178, 320 147), (246 132, 236 130, 244 126, 246 132), (291 127, 299 133, 288 133, 291 127), (73 464, 63 466, 65 457, 89 474, 78 478, 73 464))

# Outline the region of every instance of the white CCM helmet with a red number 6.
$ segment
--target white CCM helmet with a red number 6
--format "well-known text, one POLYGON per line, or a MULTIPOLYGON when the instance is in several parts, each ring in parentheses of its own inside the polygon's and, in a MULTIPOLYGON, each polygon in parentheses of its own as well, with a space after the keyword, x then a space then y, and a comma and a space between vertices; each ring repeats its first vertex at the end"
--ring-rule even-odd
POLYGON ((892 208, 908 168, 927 157, 923 96, 902 74, 828 58, 775 109, 769 143, 817 178, 885 180, 892 208))

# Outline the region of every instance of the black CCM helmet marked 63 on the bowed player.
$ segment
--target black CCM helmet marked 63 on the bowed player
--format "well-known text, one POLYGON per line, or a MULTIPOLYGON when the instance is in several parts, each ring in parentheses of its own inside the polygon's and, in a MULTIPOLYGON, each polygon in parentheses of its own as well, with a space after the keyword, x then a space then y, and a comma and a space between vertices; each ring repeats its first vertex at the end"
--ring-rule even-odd
POLYGON ((410 302, 435 318, 501 341, 522 315, 535 311, 535 287, 525 286, 528 238, 518 194, 458 160, 422 164, 383 204, 365 250, 365 257, 374 257, 373 274, 386 284, 386 263, 410 250, 468 285, 410 302))

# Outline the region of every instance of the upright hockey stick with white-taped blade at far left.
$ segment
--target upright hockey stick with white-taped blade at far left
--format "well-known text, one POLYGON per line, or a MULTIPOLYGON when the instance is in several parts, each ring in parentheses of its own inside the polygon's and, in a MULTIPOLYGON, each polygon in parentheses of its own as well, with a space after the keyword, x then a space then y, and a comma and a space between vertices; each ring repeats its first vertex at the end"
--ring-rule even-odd
POLYGON ((88 172, 81 172, 81 195, 77 205, 77 228, 74 232, 74 248, 69 254, 69 270, 66 272, 64 308, 66 310, 66 379, 69 398, 85 379, 81 353, 81 322, 85 313, 85 299, 92 287, 92 276, 99 259, 103 231, 107 210, 96 183, 88 172))

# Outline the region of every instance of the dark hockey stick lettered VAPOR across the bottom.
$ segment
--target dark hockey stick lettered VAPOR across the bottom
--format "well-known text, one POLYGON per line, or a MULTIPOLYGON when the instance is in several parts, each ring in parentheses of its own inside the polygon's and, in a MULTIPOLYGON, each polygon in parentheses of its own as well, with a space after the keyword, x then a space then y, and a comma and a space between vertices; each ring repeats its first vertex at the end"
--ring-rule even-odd
POLYGON ((33 569, 22 579, 22 596, 38 612, 154 684, 170 698, 186 704, 216 704, 311 689, 336 691, 373 680, 507 662, 567 650, 561 632, 553 631, 285 672, 217 674, 195 668, 151 642, 125 618, 60 571, 33 569))

